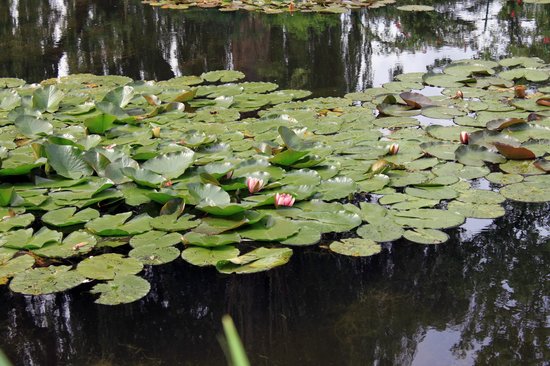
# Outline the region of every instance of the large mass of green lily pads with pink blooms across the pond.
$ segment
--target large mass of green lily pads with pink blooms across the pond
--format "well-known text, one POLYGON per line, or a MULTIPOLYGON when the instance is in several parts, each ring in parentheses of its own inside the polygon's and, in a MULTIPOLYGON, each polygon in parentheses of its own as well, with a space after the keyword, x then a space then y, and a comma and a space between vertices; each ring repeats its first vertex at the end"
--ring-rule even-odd
POLYGON ((238 71, 0 79, 1 282, 95 281, 119 304, 148 293, 144 266, 178 258, 253 273, 297 246, 443 243, 506 199, 550 201, 549 70, 462 60, 305 100, 238 71))

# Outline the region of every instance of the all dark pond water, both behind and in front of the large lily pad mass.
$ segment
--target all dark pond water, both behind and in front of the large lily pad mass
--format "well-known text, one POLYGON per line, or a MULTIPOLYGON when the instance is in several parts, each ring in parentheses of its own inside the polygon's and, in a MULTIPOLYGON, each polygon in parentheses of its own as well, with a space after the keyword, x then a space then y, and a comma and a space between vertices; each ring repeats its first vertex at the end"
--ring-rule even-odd
MULTIPOLYGON (((130 0, 3 0, 0 76, 167 79, 220 68, 340 96, 450 59, 550 60, 550 6, 425 1, 437 13, 181 13, 130 0)), ((79 287, 0 289, 0 347, 16 365, 223 365, 233 316, 254 365, 543 365, 550 360, 550 204, 507 204, 440 246, 396 242, 350 259, 295 250, 276 270, 225 276, 176 261, 117 307, 79 287)))

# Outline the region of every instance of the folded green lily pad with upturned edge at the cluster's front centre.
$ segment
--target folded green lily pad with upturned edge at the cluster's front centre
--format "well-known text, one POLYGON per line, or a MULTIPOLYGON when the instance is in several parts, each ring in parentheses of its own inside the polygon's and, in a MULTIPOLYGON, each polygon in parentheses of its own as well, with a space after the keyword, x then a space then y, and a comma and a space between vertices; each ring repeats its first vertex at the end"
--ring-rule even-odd
POLYGON ((256 273, 286 264, 292 256, 289 248, 258 248, 238 257, 225 259, 216 264, 221 273, 256 273))

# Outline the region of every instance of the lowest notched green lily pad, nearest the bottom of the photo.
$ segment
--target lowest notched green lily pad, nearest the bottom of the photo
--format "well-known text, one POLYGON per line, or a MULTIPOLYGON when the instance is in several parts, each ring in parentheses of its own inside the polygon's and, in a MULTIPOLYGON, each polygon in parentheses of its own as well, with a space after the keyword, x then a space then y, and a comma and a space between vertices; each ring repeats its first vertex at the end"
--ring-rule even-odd
POLYGON ((96 304, 128 304, 141 299, 149 293, 151 285, 147 280, 133 275, 116 276, 106 283, 98 283, 90 292, 99 294, 96 304))

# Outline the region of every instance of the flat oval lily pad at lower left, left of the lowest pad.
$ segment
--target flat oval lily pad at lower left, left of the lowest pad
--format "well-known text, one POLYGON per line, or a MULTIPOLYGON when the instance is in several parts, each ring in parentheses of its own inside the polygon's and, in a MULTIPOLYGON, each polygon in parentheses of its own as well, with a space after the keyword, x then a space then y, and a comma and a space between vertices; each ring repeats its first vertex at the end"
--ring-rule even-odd
POLYGON ((10 290, 25 295, 44 295, 69 290, 85 281, 86 278, 70 266, 49 266, 16 274, 10 290))

